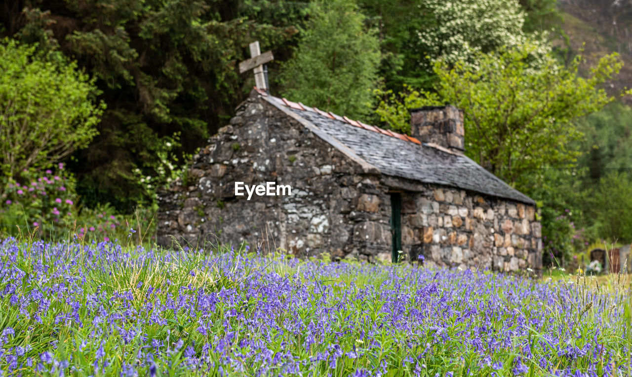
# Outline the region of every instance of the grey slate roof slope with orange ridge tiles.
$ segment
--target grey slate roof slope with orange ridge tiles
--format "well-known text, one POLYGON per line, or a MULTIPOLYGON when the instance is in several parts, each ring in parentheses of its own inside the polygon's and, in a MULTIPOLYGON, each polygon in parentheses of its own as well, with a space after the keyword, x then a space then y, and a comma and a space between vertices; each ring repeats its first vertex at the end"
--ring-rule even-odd
POLYGON ((414 137, 384 132, 362 122, 258 92, 270 103, 284 107, 333 137, 385 175, 535 204, 533 199, 466 156, 429 146, 414 137))

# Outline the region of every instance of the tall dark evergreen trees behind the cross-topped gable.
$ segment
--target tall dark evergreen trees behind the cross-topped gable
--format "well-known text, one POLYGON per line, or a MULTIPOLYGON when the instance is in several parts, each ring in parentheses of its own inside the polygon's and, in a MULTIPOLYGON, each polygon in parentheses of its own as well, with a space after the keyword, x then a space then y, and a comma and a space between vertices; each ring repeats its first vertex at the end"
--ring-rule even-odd
POLYGON ((251 75, 237 69, 249 57, 248 44, 260 40, 263 49, 274 49, 296 33, 291 25, 246 18, 240 3, 0 2, 0 33, 39 42, 42 52, 72 57, 97 77, 99 99, 107 103, 99 135, 68 161, 82 204, 133 211, 147 199, 137 169, 143 177, 159 175, 168 164, 157 154, 167 144, 178 147, 169 155, 182 157, 233 115, 252 88, 251 75))

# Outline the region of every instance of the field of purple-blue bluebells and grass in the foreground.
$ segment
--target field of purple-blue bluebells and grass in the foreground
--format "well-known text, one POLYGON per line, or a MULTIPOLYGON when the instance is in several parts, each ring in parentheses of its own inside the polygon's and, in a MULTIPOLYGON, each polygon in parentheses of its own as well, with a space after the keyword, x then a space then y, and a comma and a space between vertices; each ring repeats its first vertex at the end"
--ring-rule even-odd
POLYGON ((621 286, 80 239, 0 262, 6 375, 630 375, 621 286))

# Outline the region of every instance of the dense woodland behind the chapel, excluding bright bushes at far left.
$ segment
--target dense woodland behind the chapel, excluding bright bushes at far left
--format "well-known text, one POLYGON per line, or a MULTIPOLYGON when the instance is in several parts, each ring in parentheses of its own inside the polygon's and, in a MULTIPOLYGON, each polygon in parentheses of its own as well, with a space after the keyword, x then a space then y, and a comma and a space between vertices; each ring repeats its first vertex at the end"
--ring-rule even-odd
POLYGON ((237 66, 259 40, 274 95, 403 132, 407 108, 464 108, 468 156, 538 200, 545 263, 568 260, 632 241, 631 26, 628 1, 0 1, 7 51, 83 72, 94 105, 71 153, 4 161, 4 199, 61 162, 69 215, 151 212, 252 89, 237 66))

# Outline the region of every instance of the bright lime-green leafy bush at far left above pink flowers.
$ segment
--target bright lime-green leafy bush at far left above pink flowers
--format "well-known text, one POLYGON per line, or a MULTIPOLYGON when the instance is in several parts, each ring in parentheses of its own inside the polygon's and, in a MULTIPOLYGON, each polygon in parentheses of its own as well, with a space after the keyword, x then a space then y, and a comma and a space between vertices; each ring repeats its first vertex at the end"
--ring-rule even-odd
POLYGON ((0 42, 0 170, 8 177, 47 168, 97 135, 104 104, 95 79, 35 55, 35 46, 0 42))

